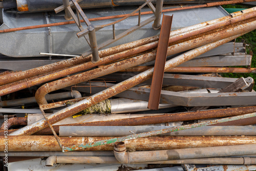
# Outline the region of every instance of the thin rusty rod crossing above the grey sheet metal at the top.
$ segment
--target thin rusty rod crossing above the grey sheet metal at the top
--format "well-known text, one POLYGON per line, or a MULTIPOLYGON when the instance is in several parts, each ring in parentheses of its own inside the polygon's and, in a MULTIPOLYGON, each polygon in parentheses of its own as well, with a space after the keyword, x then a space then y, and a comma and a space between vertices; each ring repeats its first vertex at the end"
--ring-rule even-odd
MULTIPOLYGON (((253 2, 253 0, 237 0, 237 1, 225 1, 225 2, 207 3, 205 5, 196 5, 196 6, 189 6, 189 7, 165 9, 165 10, 162 10, 162 12, 179 11, 179 10, 204 8, 204 7, 214 7, 214 6, 227 5, 227 4, 244 3, 244 2, 253 2)), ((153 12, 152 11, 141 12, 141 15, 146 15, 146 14, 153 14, 153 12)), ((126 17, 127 15, 129 15, 129 14, 112 15, 112 16, 97 17, 97 18, 89 18, 89 21, 93 22, 93 21, 98 21, 98 20, 121 18, 121 17, 126 17)), ((135 13, 132 16, 137 16, 137 15, 139 15, 139 13, 135 13)), ((81 19, 80 22, 83 23, 84 20, 81 19)), ((36 25, 36 26, 27 26, 27 27, 4 29, 4 30, 0 30, 0 33, 20 31, 20 30, 29 30, 29 29, 37 29, 37 28, 45 28, 45 27, 62 26, 62 25, 69 25, 69 24, 75 24, 75 22, 74 21, 59 22, 59 23, 52 23, 52 24, 45 24, 45 25, 36 25)))

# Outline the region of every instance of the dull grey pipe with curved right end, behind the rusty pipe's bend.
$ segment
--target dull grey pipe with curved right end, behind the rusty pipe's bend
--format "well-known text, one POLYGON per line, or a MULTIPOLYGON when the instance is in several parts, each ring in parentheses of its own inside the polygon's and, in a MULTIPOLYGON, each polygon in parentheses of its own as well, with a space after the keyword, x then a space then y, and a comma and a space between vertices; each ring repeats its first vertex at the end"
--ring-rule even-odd
MULTIPOLYGON (((66 99, 66 98, 81 98, 81 94, 73 90, 72 92, 63 92, 63 93, 56 93, 56 94, 47 94, 46 100, 54 100, 54 99, 66 99)), ((28 103, 36 103, 35 97, 28 97, 22 99, 15 99, 15 100, 7 100, 7 101, 0 101, 0 107, 6 106, 15 106, 15 105, 24 105, 28 103)), ((41 113, 41 112, 39 112, 41 113)))

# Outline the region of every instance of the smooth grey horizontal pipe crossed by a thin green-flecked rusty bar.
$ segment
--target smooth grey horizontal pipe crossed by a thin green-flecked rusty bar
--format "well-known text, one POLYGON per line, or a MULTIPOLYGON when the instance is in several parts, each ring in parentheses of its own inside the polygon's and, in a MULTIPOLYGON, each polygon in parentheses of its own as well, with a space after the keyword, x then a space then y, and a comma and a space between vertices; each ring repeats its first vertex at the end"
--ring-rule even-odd
MULTIPOLYGON (((127 136, 172 126, 59 126, 59 136, 127 136)), ((254 136, 256 126, 203 126, 158 136, 254 136)))

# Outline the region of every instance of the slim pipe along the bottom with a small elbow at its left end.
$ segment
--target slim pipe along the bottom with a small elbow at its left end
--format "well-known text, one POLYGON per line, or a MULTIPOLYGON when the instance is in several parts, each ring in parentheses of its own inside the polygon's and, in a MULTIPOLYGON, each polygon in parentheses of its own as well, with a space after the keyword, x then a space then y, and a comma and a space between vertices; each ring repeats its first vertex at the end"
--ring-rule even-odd
MULTIPOLYGON (((96 157, 96 156, 50 156, 46 159, 46 166, 53 166, 57 163, 112 163, 119 164, 115 157, 96 157)), ((256 158, 250 157, 220 157, 220 158, 199 158, 199 159, 184 159, 184 160, 166 160, 166 161, 151 161, 140 162, 133 164, 241 164, 250 165, 256 164, 256 158)))

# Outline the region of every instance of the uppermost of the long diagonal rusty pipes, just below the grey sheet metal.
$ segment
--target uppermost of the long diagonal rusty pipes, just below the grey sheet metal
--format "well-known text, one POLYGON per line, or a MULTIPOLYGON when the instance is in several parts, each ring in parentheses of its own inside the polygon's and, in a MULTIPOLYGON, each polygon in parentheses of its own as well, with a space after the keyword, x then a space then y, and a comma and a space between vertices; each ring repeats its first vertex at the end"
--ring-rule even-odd
MULTIPOLYGON (((180 39, 183 39, 183 38, 186 38, 186 37, 190 37, 192 35, 200 34, 202 32, 209 31, 209 30, 212 30, 212 29, 215 29, 215 28, 226 26, 230 23, 236 23, 236 22, 239 22, 241 20, 250 18, 252 16, 255 16, 255 11, 253 11, 253 10, 254 10, 254 8, 247 9, 247 10, 244 10, 243 13, 242 12, 233 13, 233 14, 236 14, 233 17, 231 17, 231 15, 229 15, 229 16, 225 16, 225 17, 222 17, 222 18, 211 20, 209 22, 204 22, 204 23, 201 23, 201 24, 198 24, 198 25, 187 27, 186 29, 179 29, 179 30, 173 31, 173 33, 170 34, 170 36, 174 36, 174 37, 169 39, 169 43, 180 40, 180 39), (242 14, 243 14, 243 16, 240 16, 242 14), (236 18, 238 18, 238 19, 236 19, 236 18), (206 26, 206 27, 201 28, 201 29, 195 29, 195 28, 200 28, 202 26, 206 26), (193 29, 195 29, 195 30, 193 30, 193 29), (189 32, 189 30, 193 30, 193 31, 189 32), (184 31, 185 31, 185 33, 183 35, 177 35, 177 33, 181 33, 181 32, 184 32, 184 31)), ((118 53, 118 52, 130 49, 130 48, 134 48, 136 46, 145 45, 147 43, 150 43, 150 42, 156 41, 156 40, 158 40, 158 36, 144 38, 144 39, 137 40, 137 41, 134 41, 134 42, 131 42, 131 43, 128 43, 128 44, 124 44, 124 45, 121 45, 121 46, 116 46, 114 48, 106 49, 104 51, 100 51, 99 55, 100 55, 100 57, 102 57, 101 54, 103 56, 106 56, 106 54, 108 54, 108 51, 113 51, 112 53, 109 53, 109 55, 111 55, 111 54, 114 54, 115 52, 118 53)), ((156 47, 157 47, 157 45, 156 45, 156 47)), ((0 79, 2 79, 2 82, 0 83, 0 85, 6 84, 6 83, 9 83, 9 82, 13 82, 13 81, 17 81, 17 80, 20 80, 20 79, 28 78, 28 77, 31 77, 31 76, 34 76, 34 75, 42 74, 42 73, 45 73, 45 72, 54 71, 54 70, 57 70, 57 69, 60 69, 60 68, 70 67, 71 65, 75 65, 77 63, 89 61, 89 58, 91 58, 91 56, 87 57, 86 59, 76 57, 76 58, 72 58, 72 60, 68 59, 67 60, 68 62, 66 62, 66 60, 61 61, 61 62, 56 62, 56 63, 50 64, 50 65, 47 65, 47 66, 42 66, 42 67, 38 67, 38 68, 35 68, 35 69, 24 71, 24 72, 19 73, 18 75, 15 75, 15 76, 9 76, 9 77, 1 77, 0 76, 0 79)))

